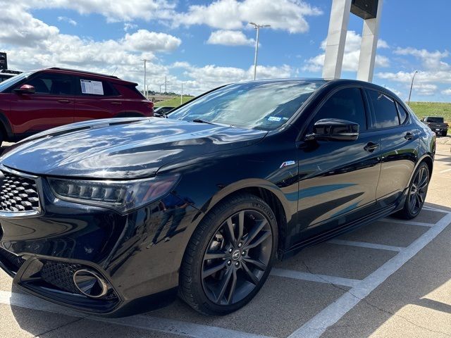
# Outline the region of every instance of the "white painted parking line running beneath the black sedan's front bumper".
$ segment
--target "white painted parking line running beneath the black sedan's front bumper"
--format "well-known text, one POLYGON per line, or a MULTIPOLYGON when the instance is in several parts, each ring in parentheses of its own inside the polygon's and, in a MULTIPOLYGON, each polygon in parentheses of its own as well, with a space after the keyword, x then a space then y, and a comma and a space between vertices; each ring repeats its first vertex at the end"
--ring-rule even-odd
POLYGON ((20 306, 21 308, 31 308, 39 311, 47 311, 51 313, 60 313, 63 315, 72 315, 73 317, 85 318, 97 322, 110 323, 133 327, 141 330, 149 330, 156 332, 165 332, 169 334, 177 334, 183 337, 193 338, 271 338, 261 336, 259 334, 251 334, 247 332, 228 330, 222 327, 214 327, 209 325, 200 325, 194 323, 182 322, 179 320, 169 320, 164 318, 156 318, 149 315, 134 315, 127 318, 101 318, 92 315, 85 315, 80 312, 64 308, 62 306, 43 301, 35 296, 27 294, 18 294, 17 292, 0 291, 0 303, 20 306))

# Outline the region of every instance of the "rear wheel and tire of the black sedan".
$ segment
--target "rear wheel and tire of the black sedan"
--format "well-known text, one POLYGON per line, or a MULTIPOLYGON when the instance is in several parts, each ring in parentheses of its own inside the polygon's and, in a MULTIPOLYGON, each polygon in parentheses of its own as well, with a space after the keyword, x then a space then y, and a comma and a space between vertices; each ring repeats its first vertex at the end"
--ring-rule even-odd
POLYGON ((429 180, 431 180, 429 167, 422 162, 415 170, 412 182, 409 184, 404 208, 397 212, 397 216, 404 218, 404 220, 412 220, 420 213, 428 192, 429 180))

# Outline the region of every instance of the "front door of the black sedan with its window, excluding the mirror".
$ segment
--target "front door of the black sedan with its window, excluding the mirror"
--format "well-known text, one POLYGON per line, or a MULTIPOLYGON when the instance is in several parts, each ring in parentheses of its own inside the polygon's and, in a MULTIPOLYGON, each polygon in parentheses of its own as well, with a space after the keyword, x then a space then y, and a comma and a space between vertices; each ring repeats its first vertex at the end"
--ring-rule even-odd
POLYGON ((315 139, 299 147, 299 240, 374 210, 381 165, 378 134, 367 127, 368 110, 362 88, 346 87, 332 92, 314 113, 305 134, 318 120, 338 118, 359 123, 359 138, 315 139))

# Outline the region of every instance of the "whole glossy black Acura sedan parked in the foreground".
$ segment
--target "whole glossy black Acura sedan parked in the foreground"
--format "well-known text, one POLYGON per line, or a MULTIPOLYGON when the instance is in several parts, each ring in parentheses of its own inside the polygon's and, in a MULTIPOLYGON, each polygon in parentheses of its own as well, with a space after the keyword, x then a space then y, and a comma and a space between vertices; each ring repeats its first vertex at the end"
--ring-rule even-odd
POLYGON ((223 315, 276 258, 419 214, 435 135, 354 80, 220 87, 167 118, 96 120, 0 158, 0 265, 26 292, 123 316, 179 295, 223 315))

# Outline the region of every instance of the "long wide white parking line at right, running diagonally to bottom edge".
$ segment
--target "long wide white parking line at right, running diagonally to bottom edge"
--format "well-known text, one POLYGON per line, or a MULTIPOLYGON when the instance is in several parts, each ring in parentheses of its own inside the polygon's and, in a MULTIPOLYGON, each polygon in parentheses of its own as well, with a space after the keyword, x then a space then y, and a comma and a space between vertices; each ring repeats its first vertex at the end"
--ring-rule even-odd
POLYGON ((360 282, 357 287, 353 287, 348 292, 340 296, 340 298, 323 309, 320 313, 311 318, 307 323, 299 327, 295 332, 290 334, 288 338, 315 338, 320 337, 328 327, 338 322, 348 311, 359 303, 362 299, 373 292, 376 287, 381 285, 390 275, 393 275, 402 267, 409 259, 414 257, 421 249, 430 243, 440 234, 447 225, 451 223, 451 213, 447 213, 445 217, 438 221, 433 227, 416 239, 412 244, 407 246, 390 261, 382 265, 378 270, 374 271, 360 282))

